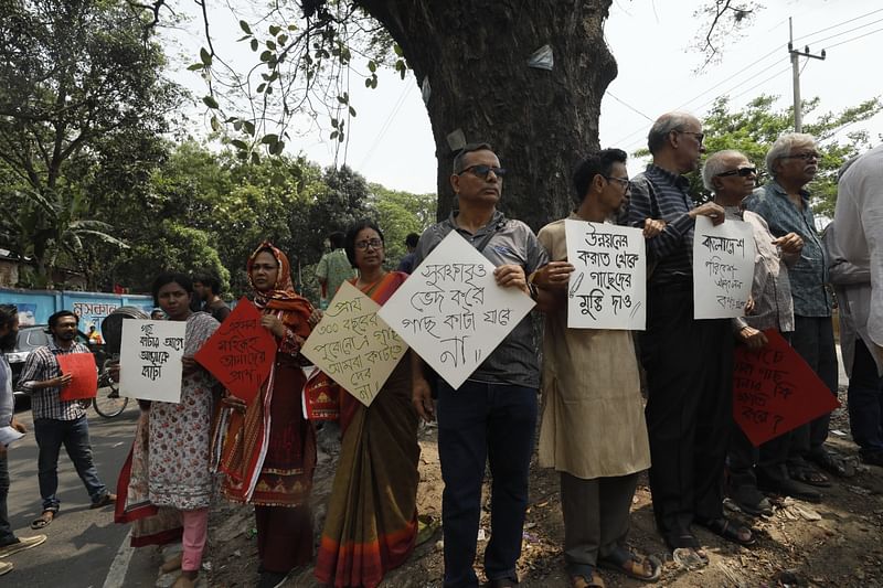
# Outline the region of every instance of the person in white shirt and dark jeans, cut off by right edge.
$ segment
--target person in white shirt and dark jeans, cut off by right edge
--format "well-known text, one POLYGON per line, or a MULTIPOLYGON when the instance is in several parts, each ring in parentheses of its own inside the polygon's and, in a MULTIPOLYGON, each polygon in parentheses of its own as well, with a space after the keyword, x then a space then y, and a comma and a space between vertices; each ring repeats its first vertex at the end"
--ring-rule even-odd
POLYGON ((852 437, 864 462, 883 466, 883 145, 843 172, 832 226, 842 263, 832 261, 831 281, 857 335, 852 356, 843 357, 852 437))

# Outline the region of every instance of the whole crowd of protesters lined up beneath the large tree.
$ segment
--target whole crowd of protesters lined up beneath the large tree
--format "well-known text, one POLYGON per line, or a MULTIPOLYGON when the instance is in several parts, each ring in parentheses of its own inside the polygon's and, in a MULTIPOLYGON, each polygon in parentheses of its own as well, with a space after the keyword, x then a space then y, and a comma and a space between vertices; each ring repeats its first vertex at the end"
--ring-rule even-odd
MULTIPOLYGON (((76 317, 53 314, 50 344, 31 354, 21 377, 33 398, 40 447, 42 513, 32 527, 46 527, 58 513, 56 470, 64 445, 92 506, 117 501, 118 521, 134 525, 136 545, 182 543, 180 555, 163 564, 163 571, 180 568, 175 588, 196 581, 215 488, 231 501, 254 505, 258 587, 280 586, 292 569, 311 563, 323 585, 377 586, 417 542, 422 418, 438 423, 446 587, 478 586, 474 563, 488 463, 491 533, 483 574, 492 588, 519 584, 538 424, 540 464, 560 472, 571 586, 603 587, 600 569, 659 579, 661 563, 626 544, 632 496, 645 471, 659 534, 688 567, 709 563, 695 526, 754 545, 759 539, 751 526, 725 514, 725 498, 745 515, 768 516, 768 495, 822 501, 830 474, 852 472, 826 448, 829 415, 752 445, 733 419, 734 350, 763 349, 765 332, 775 330, 837 395, 831 286, 851 376, 853 438, 863 461, 883 466, 883 147, 841 170, 834 222, 822 235, 807 190, 820 159, 813 137, 779 137, 766 154, 763 185, 759 162, 736 150, 703 158, 703 138, 695 117, 666 114, 650 129, 652 161, 646 171, 629 178, 619 149, 588 152, 574 171, 567 218, 642 229, 652 268, 643 332, 567 327, 574 265, 564 220, 534 234, 506 217, 498 204, 507 170, 487 143, 459 151, 450 177, 456 210, 423 235, 408 235, 398 270, 385 269, 383 232, 373 222, 330 235, 331 250, 317 271, 320 308, 295 291, 285 253, 270 243, 255 249, 246 266, 252 300, 277 350, 254 402, 219 389, 193 360, 230 313, 217 278, 157 277, 153 298, 161 313, 153 318, 187 322, 181 402, 141 403, 119 498, 93 463, 82 403, 60 397, 70 375, 61 373, 56 357, 84 350, 73 336, 76 317), (696 205, 684 174, 700 167, 712 200, 696 205), (751 227, 755 270, 743 318, 694 318, 698 216, 751 227), (370 406, 341 395, 342 449, 328 466, 336 474, 317 550, 310 510, 317 427, 302 407, 304 367, 310 362, 301 346, 343 281, 382 306, 451 232, 497 268, 499 287, 535 301, 545 319, 542 361, 528 316, 456 389, 425 370, 412 351, 370 406)), ((15 317, 14 308, 0 307, 4 349, 14 344, 15 317)), ((11 410, 9 366, 0 367, 0 426, 21 430, 11 410)), ((45 535, 18 538, 9 528, 7 463, 7 448, 0 447, 0 557, 46 541, 45 535)), ((0 563, 0 574, 9 569, 11 564, 0 563)))

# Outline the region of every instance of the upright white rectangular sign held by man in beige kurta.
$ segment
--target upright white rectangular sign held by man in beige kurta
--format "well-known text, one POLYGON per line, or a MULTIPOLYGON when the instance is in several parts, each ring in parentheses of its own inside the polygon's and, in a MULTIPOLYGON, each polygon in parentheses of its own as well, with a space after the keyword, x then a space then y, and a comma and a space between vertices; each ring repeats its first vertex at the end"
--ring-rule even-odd
POLYGON ((645 329, 647 256, 639 228, 564 221, 571 329, 645 329))

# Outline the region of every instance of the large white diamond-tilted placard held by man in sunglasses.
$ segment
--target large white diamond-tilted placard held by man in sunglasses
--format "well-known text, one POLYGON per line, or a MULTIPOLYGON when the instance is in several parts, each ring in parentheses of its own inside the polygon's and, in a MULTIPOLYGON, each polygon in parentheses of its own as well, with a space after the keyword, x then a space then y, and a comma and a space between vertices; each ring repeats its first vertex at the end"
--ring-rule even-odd
POLYGON ((534 306, 521 290, 497 286, 493 270, 451 231, 379 312, 454 389, 534 306))

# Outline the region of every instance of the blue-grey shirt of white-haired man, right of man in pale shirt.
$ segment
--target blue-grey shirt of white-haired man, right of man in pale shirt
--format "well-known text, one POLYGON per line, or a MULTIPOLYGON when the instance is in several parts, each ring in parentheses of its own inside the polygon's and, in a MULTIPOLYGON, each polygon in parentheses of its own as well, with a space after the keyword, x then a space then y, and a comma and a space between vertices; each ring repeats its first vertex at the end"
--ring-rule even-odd
POLYGON ((743 206, 758 214, 769 225, 769 232, 781 237, 797 233, 804 239, 800 259, 788 268, 794 297, 794 313, 798 317, 830 317, 831 297, 825 287, 828 281, 828 253, 821 244, 816 220, 809 206, 809 192, 800 191, 804 210, 798 211, 788 193, 776 182, 756 189, 743 201, 743 206))

